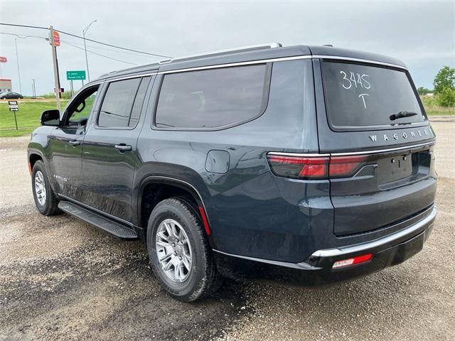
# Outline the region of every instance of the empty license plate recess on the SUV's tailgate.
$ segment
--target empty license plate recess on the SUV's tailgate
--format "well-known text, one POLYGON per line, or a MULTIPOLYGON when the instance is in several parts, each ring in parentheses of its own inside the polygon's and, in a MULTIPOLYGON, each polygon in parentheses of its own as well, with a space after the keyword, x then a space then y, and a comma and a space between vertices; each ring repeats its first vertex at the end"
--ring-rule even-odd
POLYGON ((395 155, 378 160, 378 183, 383 185, 412 175, 412 155, 395 155))

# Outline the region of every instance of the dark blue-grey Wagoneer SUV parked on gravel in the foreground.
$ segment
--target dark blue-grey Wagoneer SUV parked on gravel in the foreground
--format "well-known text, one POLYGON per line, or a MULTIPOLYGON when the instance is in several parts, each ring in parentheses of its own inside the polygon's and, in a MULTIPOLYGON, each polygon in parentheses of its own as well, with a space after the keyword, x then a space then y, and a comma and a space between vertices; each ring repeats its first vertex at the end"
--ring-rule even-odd
POLYGON ((133 67, 46 110, 38 211, 146 243, 168 293, 223 276, 319 285, 416 254, 436 206, 434 131, 394 58, 279 44, 133 67))

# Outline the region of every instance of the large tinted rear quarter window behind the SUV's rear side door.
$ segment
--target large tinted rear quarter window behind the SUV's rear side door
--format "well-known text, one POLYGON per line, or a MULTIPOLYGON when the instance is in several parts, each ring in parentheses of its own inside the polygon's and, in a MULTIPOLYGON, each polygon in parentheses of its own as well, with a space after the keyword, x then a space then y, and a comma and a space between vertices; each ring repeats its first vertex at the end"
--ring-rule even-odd
POLYGON ((200 129, 254 119, 267 102, 268 69, 259 64, 165 75, 155 125, 200 129))

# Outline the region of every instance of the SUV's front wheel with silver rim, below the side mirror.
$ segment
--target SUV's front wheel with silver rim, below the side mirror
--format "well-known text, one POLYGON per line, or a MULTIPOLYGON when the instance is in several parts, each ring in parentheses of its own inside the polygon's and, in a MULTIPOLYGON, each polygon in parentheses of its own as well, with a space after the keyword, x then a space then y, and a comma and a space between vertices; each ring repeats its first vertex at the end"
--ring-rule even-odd
POLYGON ((33 165, 31 188, 36 208, 42 215, 49 216, 58 214, 58 200, 57 197, 55 197, 52 188, 50 188, 48 173, 45 171, 43 161, 36 161, 33 165), (39 192, 40 189, 41 192, 39 192))

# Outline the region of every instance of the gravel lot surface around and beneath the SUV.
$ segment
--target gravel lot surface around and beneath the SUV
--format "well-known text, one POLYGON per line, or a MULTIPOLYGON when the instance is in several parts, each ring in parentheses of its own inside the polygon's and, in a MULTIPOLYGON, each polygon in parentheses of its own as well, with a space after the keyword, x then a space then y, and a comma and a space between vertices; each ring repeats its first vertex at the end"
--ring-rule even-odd
POLYGON ((0 340, 455 340, 455 120, 434 120, 439 215, 422 252, 324 288, 227 281, 180 303, 146 249, 68 215, 43 217, 28 138, 0 139, 0 340))

